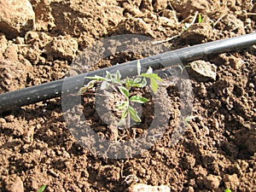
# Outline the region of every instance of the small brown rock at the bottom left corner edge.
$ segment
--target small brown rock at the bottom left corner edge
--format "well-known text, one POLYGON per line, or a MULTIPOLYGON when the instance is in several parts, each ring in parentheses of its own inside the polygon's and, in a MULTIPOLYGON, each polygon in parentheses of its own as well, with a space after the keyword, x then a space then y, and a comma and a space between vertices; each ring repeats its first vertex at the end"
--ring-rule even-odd
POLYGON ((21 178, 16 175, 9 177, 9 181, 6 181, 5 189, 7 192, 24 192, 24 186, 21 178))

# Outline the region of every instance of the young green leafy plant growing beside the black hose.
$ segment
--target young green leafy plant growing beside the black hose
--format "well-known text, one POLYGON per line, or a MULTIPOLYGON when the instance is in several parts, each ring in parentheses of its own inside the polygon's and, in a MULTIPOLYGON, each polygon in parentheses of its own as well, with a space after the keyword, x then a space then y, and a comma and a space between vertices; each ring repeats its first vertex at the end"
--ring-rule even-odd
POLYGON ((85 84, 79 90, 79 95, 83 95, 87 90, 90 90, 94 87, 95 84, 102 82, 100 89, 108 90, 109 88, 118 92, 125 100, 121 102, 118 106, 115 106, 120 112, 122 112, 119 126, 124 125, 126 123, 126 128, 130 127, 130 119, 135 122, 141 122, 137 110, 131 107, 132 102, 145 103, 148 102, 148 99, 143 96, 131 96, 131 88, 143 88, 148 84, 148 79, 150 80, 151 89, 154 93, 157 92, 158 84, 157 81, 162 81, 160 77, 153 73, 153 69, 151 67, 148 68, 147 73, 141 73, 141 64, 140 61, 137 61, 137 76, 133 78, 126 77, 125 79, 121 79, 121 74, 119 71, 112 74, 106 71, 106 76, 95 76, 95 77, 86 77, 86 79, 91 79, 88 84, 85 84))

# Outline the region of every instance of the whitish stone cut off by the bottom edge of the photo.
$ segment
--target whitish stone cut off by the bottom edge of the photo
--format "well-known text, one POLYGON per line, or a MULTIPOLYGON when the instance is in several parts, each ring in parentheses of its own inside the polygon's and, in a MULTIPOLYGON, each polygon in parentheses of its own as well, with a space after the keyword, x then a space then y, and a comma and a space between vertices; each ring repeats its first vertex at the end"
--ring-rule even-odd
POLYGON ((152 186, 143 183, 133 184, 129 187, 128 192, 171 192, 166 185, 152 186))

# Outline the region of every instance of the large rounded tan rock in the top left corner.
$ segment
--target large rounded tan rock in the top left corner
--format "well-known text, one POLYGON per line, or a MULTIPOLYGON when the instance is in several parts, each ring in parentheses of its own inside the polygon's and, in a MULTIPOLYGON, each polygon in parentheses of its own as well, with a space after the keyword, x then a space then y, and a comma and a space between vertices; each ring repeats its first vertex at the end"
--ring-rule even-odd
POLYGON ((35 13, 28 0, 0 0, 0 32, 7 38, 23 36, 35 27, 35 13))

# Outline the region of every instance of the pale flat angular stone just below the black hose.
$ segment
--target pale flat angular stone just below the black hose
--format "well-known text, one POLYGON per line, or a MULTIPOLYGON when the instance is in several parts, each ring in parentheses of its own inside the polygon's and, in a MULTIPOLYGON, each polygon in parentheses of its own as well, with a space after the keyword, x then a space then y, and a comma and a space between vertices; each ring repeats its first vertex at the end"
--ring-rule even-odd
MULTIPOLYGON (((191 75, 201 81, 216 80, 217 67, 207 61, 193 61, 190 62, 191 75)), ((190 73, 189 73, 190 74, 190 73)))

